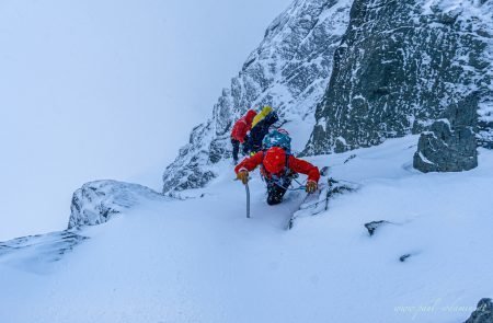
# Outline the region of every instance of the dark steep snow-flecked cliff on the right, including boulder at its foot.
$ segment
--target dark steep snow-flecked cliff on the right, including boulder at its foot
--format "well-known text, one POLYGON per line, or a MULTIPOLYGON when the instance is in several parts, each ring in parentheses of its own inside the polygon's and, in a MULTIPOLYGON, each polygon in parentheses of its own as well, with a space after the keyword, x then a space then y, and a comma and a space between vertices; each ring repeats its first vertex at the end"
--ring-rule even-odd
POLYGON ((355 0, 305 153, 431 130, 421 140, 417 168, 474 166, 478 118, 492 112, 491 2, 355 0), (431 127, 444 118, 448 129, 446 122, 431 127), (460 161, 452 164, 455 158, 460 161))

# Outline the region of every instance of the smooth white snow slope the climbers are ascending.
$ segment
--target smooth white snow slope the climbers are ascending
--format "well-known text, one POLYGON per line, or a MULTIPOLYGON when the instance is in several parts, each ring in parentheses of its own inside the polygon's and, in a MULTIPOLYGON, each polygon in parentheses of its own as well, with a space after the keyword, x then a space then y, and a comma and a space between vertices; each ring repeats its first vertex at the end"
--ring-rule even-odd
POLYGON ((312 158, 362 186, 291 231, 301 196, 270 207, 255 174, 246 219, 222 172, 196 198, 74 230, 89 239, 60 261, 0 243, 1 322, 463 322, 493 296, 493 151, 470 172, 423 174, 416 142, 312 158), (391 223, 370 237, 376 220, 391 223))

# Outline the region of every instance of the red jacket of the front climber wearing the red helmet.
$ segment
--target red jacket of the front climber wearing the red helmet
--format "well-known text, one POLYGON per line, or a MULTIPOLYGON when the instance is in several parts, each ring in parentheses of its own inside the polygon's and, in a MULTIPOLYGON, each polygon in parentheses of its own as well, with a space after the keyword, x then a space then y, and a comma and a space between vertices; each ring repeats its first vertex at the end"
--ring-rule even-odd
MULTIPOLYGON (((262 164, 262 161, 264 160, 264 152, 259 151, 251 158, 245 158, 241 163, 239 163, 234 168, 234 172, 238 174, 241 170, 246 170, 249 172, 253 171, 257 165, 262 164)), ((289 155, 288 161, 289 169, 295 173, 301 173, 305 175, 308 175, 308 181, 313 181, 316 183, 320 180, 320 172, 319 169, 311 163, 303 161, 301 159, 297 159, 294 155, 289 155)), ((271 175, 271 174, 265 174, 271 175)), ((275 175, 283 175, 283 174, 275 174, 275 175)))

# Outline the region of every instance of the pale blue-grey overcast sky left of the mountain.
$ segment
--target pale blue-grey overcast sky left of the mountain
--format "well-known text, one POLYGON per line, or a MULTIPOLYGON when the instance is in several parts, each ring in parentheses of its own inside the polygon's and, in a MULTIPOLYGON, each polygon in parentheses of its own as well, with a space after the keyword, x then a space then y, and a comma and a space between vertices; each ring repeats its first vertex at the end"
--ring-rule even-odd
POLYGON ((160 188, 291 0, 1 0, 0 241, 65 229, 99 178, 160 188))

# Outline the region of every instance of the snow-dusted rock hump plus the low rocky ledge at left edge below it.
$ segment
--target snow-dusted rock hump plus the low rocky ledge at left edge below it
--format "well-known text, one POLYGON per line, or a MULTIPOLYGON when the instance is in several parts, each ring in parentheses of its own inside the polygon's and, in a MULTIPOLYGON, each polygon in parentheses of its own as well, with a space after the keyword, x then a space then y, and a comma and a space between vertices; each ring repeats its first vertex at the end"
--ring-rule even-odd
POLYGON ((113 216, 130 211, 140 204, 169 201, 170 198, 138 185, 116 181, 84 184, 73 193, 68 229, 30 235, 0 243, 0 264, 13 264, 27 272, 43 272, 77 245, 89 239, 83 227, 108 221, 113 216))

